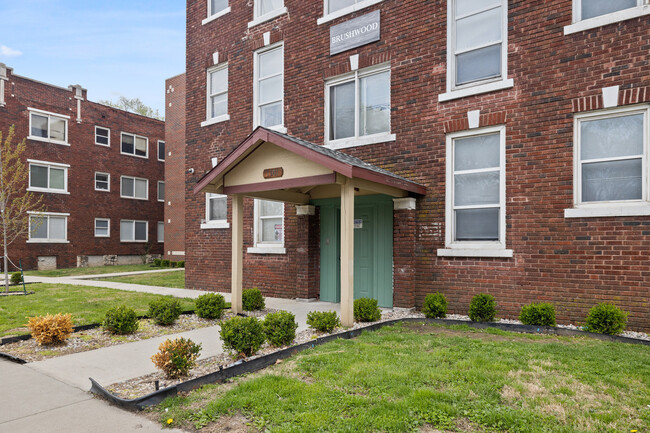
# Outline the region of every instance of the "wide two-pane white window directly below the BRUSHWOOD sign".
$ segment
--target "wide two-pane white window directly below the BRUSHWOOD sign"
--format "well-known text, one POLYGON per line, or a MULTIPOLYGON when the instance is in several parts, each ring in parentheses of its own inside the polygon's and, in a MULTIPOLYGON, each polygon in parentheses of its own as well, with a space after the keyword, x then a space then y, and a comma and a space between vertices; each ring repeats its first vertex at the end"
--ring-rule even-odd
POLYGON ((329 147, 395 140, 390 135, 390 69, 356 71, 326 85, 329 147))

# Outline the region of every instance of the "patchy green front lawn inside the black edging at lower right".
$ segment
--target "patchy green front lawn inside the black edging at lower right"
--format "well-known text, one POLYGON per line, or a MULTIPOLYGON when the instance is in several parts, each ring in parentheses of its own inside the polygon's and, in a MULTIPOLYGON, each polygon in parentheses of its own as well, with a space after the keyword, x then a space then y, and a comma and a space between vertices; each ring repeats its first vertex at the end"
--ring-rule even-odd
POLYGON ((401 324, 165 400, 153 416, 269 432, 648 432, 650 348, 401 324), (169 409, 169 412, 165 412, 169 409))

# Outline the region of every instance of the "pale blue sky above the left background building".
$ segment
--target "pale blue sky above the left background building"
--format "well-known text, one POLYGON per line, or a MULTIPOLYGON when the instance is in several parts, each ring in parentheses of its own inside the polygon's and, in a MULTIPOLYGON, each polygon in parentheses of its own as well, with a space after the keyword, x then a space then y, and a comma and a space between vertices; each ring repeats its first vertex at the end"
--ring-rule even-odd
POLYGON ((0 0, 0 62, 88 99, 140 98, 165 111, 165 79, 185 70, 183 0, 0 0))

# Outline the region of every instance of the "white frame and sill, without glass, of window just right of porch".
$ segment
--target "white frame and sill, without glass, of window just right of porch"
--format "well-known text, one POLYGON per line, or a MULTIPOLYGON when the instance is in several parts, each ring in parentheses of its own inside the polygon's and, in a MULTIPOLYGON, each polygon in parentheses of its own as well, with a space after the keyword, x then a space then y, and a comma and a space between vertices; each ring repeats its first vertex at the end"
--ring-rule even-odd
POLYGON ((445 248, 438 256, 449 257, 504 257, 513 256, 506 249, 506 128, 504 125, 447 134, 445 186, 445 248), (481 135, 499 134, 499 240, 455 241, 454 224, 454 140, 481 135))

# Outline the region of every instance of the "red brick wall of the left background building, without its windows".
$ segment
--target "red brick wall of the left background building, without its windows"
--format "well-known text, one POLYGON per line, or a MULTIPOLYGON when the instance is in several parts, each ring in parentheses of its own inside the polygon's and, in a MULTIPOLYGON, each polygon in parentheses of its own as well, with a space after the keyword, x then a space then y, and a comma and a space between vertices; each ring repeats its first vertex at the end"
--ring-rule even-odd
MULTIPOLYGON (((157 201, 157 182, 164 179, 164 164, 157 161, 158 140, 164 140, 164 122, 127 113, 86 100, 81 101, 81 123, 77 123, 77 100, 68 90, 24 77, 9 70, 5 83, 5 107, 0 107, 0 130, 16 126, 16 141, 29 135, 28 107, 70 116, 68 143, 63 146, 27 140, 25 159, 69 164, 70 194, 42 194, 45 210, 70 213, 68 244, 27 244, 18 239, 9 247, 9 257, 26 269, 35 268, 38 256, 56 256, 58 267, 75 267, 78 255, 140 255, 162 253, 157 241, 157 222, 163 205, 157 201), (110 147, 95 145, 95 125, 110 128, 110 147), (149 138, 149 158, 120 155, 120 132, 149 138), (95 191, 95 171, 110 173, 110 192, 95 191), (120 176, 149 179, 149 200, 120 198, 120 176), (95 218, 110 218, 110 237, 94 236, 95 218), (120 219, 149 221, 149 243, 120 242, 120 219)), ((27 187, 27 185, 25 185, 27 187)))

